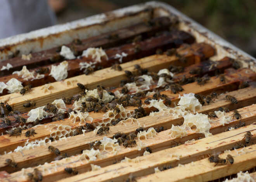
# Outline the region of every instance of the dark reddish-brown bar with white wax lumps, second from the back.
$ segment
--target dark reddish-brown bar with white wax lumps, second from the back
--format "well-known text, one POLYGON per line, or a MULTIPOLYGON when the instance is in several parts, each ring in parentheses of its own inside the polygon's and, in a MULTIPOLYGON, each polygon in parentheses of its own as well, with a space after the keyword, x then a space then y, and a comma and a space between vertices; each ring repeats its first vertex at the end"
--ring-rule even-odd
MULTIPOLYGON (((90 63, 94 62, 96 63, 95 70, 97 70, 98 66, 102 66, 103 68, 111 67, 114 65, 115 62, 119 63, 119 58, 116 58, 116 54, 122 54, 123 52, 127 54, 126 57, 122 59, 123 63, 126 63, 131 60, 143 58, 145 56, 150 56, 152 54, 155 54, 157 48, 163 49, 163 51, 166 51, 168 48, 176 48, 180 46, 180 43, 193 43, 194 37, 190 36, 190 34, 187 34, 186 32, 182 31, 173 31, 173 32, 166 32, 160 36, 157 37, 151 37, 149 39, 146 39, 145 41, 141 41, 140 43, 130 43, 126 45, 122 45, 119 47, 109 48, 106 49, 106 54, 108 56, 108 60, 106 58, 102 58, 101 62, 97 62, 92 59, 91 56, 88 58, 83 56, 81 58, 76 58, 74 60, 67 60, 68 63, 68 69, 67 69, 67 78, 75 77, 77 75, 82 75, 83 70, 80 69, 80 63, 90 63), (137 53, 135 51, 135 46, 140 45, 141 50, 137 53)), ((35 69, 29 70, 30 72, 36 71, 38 68, 47 67, 49 70, 51 70, 52 66, 57 66, 59 63, 55 63, 52 65, 45 65, 42 67, 37 67, 35 69)), ((41 79, 29 79, 26 80, 26 78, 22 78, 21 76, 18 76, 17 74, 14 75, 6 75, 4 77, 0 77, 0 82, 8 82, 11 78, 16 78, 20 82, 22 82, 22 85, 32 85, 32 87, 38 87, 40 85, 44 85, 45 83, 49 82, 55 82, 55 78, 50 75, 50 71, 48 73, 44 74, 45 77, 41 79)), ((6 95, 7 90, 5 89, 1 95, 6 95)))

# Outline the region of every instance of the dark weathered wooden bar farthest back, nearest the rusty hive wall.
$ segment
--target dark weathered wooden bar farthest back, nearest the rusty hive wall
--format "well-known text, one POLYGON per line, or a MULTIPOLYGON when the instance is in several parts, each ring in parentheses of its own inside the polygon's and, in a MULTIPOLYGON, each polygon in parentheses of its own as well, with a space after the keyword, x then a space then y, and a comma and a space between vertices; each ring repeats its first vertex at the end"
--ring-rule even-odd
MULTIPOLYGON (((152 37, 156 32, 159 31, 168 31, 169 27, 171 25, 170 19, 168 17, 160 17, 157 19, 153 19, 153 22, 161 22, 161 24, 156 24, 155 26, 148 26, 144 22, 140 24, 136 24, 130 27, 126 27, 123 29, 119 29, 117 31, 108 32, 105 34, 101 34, 99 36, 90 37, 88 39, 83 39, 81 45, 77 45, 78 51, 81 53, 83 50, 91 47, 102 47, 103 49, 111 48, 113 46, 119 46, 122 44, 125 44, 127 41, 131 41, 135 36, 141 35, 142 39, 152 37), (118 39, 109 39, 107 38, 110 34, 118 34, 118 39)), ((66 46, 71 46, 70 44, 66 44, 66 46)), ((22 66, 27 66, 28 69, 36 68, 38 66, 44 66, 48 64, 52 64, 52 61, 50 61, 50 58, 56 54, 56 49, 48 49, 45 51, 40 51, 36 53, 31 53, 32 58, 31 60, 21 60, 21 56, 18 56, 16 58, 11 58, 9 60, 1 61, 0 62, 0 68, 2 66, 6 66, 7 63, 10 63, 14 66, 14 68, 11 68, 8 70, 3 70, 0 72, 0 76, 7 74, 12 74, 13 71, 19 71, 22 69, 22 66)), ((59 60, 62 61, 63 59, 59 60)))

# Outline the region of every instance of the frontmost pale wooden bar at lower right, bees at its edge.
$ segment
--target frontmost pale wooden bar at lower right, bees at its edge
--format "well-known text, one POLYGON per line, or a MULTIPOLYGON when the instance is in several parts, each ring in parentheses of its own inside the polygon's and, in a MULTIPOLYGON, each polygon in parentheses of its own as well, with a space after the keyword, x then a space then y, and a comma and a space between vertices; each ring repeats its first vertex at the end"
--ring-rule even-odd
MULTIPOLYGON (((238 151, 240 151, 239 149, 238 151)), ((217 165, 209 163, 208 158, 196 161, 191 164, 185 164, 183 167, 175 167, 163 172, 154 173, 146 177, 136 179, 137 182, 149 182, 161 179, 162 182, 207 182, 209 180, 219 179, 239 171, 249 170, 256 167, 256 145, 246 148, 246 154, 237 155, 232 151, 230 155, 234 157, 234 163, 228 165, 217 165)), ((226 158, 227 153, 221 154, 220 158, 226 158)), ((255 175, 253 175, 255 177, 255 175)), ((63 180, 64 181, 64 180, 63 180)))

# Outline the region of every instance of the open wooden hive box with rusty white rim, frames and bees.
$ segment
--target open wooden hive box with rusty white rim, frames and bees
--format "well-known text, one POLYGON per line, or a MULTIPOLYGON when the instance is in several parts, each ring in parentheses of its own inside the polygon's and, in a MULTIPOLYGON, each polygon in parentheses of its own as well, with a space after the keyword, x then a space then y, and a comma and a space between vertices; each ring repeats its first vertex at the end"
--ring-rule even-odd
POLYGON ((255 59, 170 5, 0 48, 1 182, 256 180, 255 59))

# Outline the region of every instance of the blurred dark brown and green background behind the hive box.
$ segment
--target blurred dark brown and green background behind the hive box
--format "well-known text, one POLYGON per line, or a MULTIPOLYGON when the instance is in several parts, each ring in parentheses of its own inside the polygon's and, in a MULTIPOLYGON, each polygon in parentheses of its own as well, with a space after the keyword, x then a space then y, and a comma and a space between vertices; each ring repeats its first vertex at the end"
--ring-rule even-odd
MULTIPOLYGON (((256 57, 255 0, 161 0, 256 57)), ((147 0, 48 0, 65 23, 147 0)))

